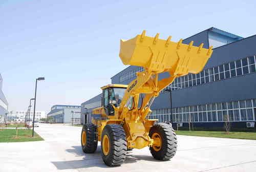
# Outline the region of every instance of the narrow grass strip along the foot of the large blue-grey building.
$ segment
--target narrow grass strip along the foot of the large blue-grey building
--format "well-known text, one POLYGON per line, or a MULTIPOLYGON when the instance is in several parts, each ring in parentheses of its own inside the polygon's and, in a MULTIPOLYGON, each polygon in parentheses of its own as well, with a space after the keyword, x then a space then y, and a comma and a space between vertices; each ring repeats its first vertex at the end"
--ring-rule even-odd
POLYGON ((214 131, 176 131, 177 135, 186 135, 186 136, 203 136, 203 137, 221 137, 221 138, 230 138, 230 139, 249 139, 256 140, 255 132, 214 132, 214 131))

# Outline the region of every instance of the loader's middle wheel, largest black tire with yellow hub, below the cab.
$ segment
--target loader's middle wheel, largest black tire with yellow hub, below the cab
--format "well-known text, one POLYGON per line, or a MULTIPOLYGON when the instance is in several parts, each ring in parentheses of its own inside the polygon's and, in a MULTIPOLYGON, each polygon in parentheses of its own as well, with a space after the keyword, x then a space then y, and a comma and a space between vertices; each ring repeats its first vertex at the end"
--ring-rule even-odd
POLYGON ((118 124, 108 124, 101 135, 101 153, 104 163, 117 166, 124 163, 127 142, 123 127, 118 124))

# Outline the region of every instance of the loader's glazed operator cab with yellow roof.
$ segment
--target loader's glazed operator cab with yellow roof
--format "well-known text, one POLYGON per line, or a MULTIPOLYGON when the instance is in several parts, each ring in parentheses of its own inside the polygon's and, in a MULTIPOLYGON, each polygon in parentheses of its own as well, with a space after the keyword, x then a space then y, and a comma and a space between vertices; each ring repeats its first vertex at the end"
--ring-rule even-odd
POLYGON ((127 85, 123 84, 108 84, 102 89, 101 106, 105 107, 107 115, 115 115, 112 104, 117 107, 120 105, 123 95, 127 89, 127 85))

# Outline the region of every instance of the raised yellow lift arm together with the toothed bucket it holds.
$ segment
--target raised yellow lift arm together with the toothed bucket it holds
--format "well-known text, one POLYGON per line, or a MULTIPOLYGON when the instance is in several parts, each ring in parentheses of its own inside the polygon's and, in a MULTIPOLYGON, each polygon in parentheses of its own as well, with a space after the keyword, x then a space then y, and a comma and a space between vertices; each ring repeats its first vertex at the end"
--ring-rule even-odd
POLYGON ((203 48, 145 36, 145 31, 130 40, 121 40, 120 58, 124 65, 143 67, 144 71, 136 73, 127 87, 122 102, 118 108, 119 119, 144 120, 151 112, 150 106, 159 92, 174 81, 176 77, 188 73, 199 73, 212 54, 212 47, 203 48), (167 72, 169 77, 159 80, 159 74, 167 72), (139 95, 144 94, 140 107, 139 95))

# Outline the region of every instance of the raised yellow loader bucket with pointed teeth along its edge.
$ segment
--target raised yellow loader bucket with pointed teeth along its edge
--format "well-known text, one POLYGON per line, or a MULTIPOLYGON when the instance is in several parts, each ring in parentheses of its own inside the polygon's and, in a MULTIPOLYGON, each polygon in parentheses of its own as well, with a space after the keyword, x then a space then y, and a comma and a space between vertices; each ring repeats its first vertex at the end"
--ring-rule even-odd
POLYGON ((175 75, 187 73, 199 73, 212 54, 212 47, 203 48, 193 46, 193 41, 188 45, 159 39, 159 33, 155 37, 141 35, 129 40, 122 40, 119 56, 124 65, 144 67, 147 71, 156 73, 170 72, 175 75))

